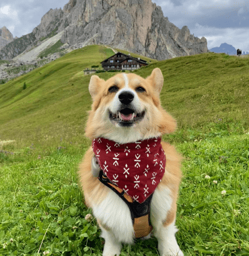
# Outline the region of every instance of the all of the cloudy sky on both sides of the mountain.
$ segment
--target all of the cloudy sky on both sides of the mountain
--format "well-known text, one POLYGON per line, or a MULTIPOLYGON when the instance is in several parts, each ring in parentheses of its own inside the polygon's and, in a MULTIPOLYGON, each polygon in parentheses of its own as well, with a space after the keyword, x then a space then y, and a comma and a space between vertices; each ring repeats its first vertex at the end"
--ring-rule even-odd
MULTIPOLYGON (((170 22, 190 33, 205 36, 208 48, 226 42, 249 52, 248 0, 152 0, 162 7, 170 22)), ((1 0, 0 28, 6 26, 13 36, 32 32, 50 8, 63 8, 69 0, 1 0)))

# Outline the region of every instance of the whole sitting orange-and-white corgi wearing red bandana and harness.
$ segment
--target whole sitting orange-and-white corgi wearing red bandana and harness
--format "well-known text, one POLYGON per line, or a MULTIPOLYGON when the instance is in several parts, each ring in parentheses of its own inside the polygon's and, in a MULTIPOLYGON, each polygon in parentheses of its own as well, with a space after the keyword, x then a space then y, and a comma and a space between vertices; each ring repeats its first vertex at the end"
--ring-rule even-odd
POLYGON ((160 104, 163 84, 159 68, 146 79, 133 73, 90 79, 85 135, 92 147, 79 166, 79 182, 102 230, 104 256, 120 255, 122 243, 150 234, 159 255, 184 255, 175 237, 182 157, 161 141, 176 130, 160 104))

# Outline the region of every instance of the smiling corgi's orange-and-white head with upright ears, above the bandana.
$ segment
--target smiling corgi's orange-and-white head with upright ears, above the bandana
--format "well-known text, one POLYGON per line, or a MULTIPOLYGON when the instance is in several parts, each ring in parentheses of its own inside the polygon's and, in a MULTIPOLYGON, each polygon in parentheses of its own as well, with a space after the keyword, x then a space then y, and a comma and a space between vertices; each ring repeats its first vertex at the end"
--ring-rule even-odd
POLYGON ((172 133, 176 121, 159 100, 163 84, 158 68, 146 79, 120 73, 104 81, 92 75, 89 90, 93 104, 85 130, 87 137, 129 143, 172 133))

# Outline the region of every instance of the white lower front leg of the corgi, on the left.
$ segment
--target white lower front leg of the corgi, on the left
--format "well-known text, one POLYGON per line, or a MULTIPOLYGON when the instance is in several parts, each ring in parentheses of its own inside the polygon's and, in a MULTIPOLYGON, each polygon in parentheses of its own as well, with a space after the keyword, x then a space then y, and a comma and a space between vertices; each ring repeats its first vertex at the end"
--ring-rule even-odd
POLYGON ((122 244, 118 242, 112 231, 100 227, 102 230, 102 237, 105 240, 103 256, 118 256, 122 248, 122 244))

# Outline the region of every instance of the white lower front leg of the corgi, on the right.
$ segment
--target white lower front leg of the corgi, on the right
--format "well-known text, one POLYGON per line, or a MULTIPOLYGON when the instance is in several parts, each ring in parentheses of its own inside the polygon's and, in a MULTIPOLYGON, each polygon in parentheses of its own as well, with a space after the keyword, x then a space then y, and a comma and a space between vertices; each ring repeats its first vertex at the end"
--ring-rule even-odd
POLYGON ((155 237, 158 241, 158 251, 160 256, 184 256, 180 247, 176 242, 176 228, 175 222, 172 222, 168 226, 161 226, 157 232, 155 232, 155 237))

